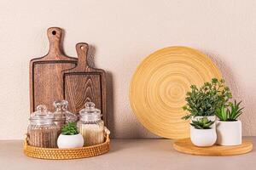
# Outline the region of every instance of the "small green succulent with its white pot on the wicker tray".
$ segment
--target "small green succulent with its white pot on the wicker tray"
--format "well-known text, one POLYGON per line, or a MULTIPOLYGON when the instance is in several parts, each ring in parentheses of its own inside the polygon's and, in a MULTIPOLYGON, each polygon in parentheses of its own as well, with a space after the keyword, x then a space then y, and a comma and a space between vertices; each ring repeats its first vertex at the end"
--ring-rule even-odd
POLYGON ((84 138, 79 133, 75 122, 68 122, 61 128, 61 134, 57 140, 59 148, 79 148, 84 145, 84 138))

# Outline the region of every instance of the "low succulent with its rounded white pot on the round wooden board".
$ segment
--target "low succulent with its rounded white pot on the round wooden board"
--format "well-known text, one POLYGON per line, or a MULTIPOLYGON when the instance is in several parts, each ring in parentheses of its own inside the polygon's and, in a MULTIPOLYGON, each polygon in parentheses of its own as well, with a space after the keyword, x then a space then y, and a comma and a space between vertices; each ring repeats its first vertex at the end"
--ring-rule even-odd
POLYGON ((211 127, 214 123, 207 117, 196 118, 190 123, 190 139, 193 144, 200 147, 212 146, 215 144, 217 134, 215 128, 211 127))

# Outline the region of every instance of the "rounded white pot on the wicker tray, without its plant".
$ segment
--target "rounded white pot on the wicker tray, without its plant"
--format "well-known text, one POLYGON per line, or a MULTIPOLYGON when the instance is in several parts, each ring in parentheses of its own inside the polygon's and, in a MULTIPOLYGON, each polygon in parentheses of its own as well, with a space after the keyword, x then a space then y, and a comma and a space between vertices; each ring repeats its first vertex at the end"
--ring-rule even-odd
POLYGON ((59 148, 80 148, 84 145, 82 134, 64 135, 60 134, 57 145, 59 148))

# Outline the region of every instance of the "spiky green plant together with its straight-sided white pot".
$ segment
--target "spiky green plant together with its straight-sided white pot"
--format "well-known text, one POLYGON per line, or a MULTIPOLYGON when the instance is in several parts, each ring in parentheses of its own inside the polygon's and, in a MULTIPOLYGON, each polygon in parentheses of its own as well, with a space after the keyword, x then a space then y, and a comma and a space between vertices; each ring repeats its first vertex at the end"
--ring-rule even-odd
POLYGON ((241 144, 241 121, 237 120, 243 110, 240 105, 241 101, 237 103, 235 100, 234 103, 230 103, 229 106, 222 105, 222 107, 217 110, 216 116, 218 116, 219 119, 216 121, 217 144, 241 144))

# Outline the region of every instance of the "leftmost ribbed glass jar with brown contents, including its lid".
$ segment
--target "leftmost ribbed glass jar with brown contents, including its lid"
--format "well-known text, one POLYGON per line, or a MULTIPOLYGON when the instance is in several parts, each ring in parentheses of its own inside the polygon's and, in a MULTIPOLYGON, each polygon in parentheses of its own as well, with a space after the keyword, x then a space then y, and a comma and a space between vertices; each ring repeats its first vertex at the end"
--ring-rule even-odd
POLYGON ((28 144, 43 148, 57 147, 57 133, 60 129, 55 125, 54 115, 47 111, 45 105, 38 105, 37 111, 31 114, 29 121, 28 144))

